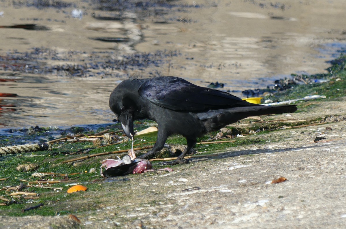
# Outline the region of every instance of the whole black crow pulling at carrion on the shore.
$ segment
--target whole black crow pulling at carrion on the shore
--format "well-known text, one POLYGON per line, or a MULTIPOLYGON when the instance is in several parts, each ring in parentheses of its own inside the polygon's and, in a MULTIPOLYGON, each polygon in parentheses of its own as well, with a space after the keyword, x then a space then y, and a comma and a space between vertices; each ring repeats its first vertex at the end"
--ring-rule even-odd
POLYGON ((227 92, 203 88, 172 76, 124 80, 110 94, 109 107, 129 138, 134 135, 134 120, 148 118, 157 122, 157 141, 152 150, 139 158, 147 158, 160 151, 172 134, 184 136, 186 149, 176 161, 166 164, 188 163, 183 158, 193 150, 197 137, 210 131, 249 116, 297 110, 295 105, 249 103, 227 92))

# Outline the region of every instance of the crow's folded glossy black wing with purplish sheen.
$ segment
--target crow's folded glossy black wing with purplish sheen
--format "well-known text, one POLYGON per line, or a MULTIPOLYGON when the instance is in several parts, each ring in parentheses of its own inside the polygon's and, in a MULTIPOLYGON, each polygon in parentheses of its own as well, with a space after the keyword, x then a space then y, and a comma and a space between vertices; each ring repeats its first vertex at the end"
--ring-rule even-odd
POLYGON ((180 111, 256 106, 229 93, 203 88, 178 77, 148 79, 140 87, 139 94, 158 106, 180 111))

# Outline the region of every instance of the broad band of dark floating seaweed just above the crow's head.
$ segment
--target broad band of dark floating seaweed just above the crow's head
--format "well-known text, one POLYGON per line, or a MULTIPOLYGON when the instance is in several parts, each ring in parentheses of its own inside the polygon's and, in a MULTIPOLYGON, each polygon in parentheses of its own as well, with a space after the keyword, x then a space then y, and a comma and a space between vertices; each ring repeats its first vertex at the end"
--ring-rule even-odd
POLYGON ((21 73, 56 74, 58 76, 89 77, 95 74, 106 76, 119 76, 120 73, 109 73, 110 70, 144 70, 149 66, 160 66, 164 59, 181 55, 177 51, 156 51, 152 53, 135 53, 111 58, 113 52, 92 52, 83 59, 84 64, 47 65, 45 61, 69 61, 70 56, 85 54, 85 52, 70 51, 61 55, 48 48, 33 48, 31 52, 8 53, 0 56, 0 69, 18 71, 21 73), (101 56, 102 55, 102 56, 101 56), (108 56, 108 57, 104 57, 108 56), (97 72, 97 73, 96 73, 97 72))

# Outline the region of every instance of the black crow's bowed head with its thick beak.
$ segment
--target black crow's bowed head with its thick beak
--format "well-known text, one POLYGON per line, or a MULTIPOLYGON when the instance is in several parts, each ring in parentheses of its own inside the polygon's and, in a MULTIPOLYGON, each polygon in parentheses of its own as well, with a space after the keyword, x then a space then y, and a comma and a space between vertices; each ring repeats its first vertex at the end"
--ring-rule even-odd
POLYGON ((136 118, 138 106, 135 101, 138 93, 120 83, 110 94, 109 107, 116 114, 127 137, 134 136, 133 120, 136 118))

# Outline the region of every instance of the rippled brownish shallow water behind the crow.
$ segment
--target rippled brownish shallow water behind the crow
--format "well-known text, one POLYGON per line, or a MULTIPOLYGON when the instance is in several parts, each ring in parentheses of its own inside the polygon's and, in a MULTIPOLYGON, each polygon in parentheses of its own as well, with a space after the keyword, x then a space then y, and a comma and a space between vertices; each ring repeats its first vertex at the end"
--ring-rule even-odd
POLYGON ((346 47, 343 0, 164 2, 131 6, 121 20, 109 20, 119 12, 100 10, 95 2, 38 9, 2 1, 0 25, 46 30, 0 28, 6 44, 0 49, 0 93, 18 95, 0 97, 0 105, 15 106, 2 107, 0 126, 110 122, 109 94, 129 76, 174 75, 201 86, 218 81, 241 97, 243 90, 265 88, 291 73, 322 73, 346 47), (81 19, 71 16, 74 8, 83 11, 81 19), (36 47, 42 51, 28 60, 25 53, 36 47), (113 68, 136 53, 156 54, 148 63, 141 57, 113 68), (106 60, 109 66, 100 67, 106 60), (67 65, 87 67, 57 70, 67 65))

